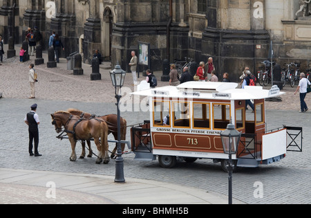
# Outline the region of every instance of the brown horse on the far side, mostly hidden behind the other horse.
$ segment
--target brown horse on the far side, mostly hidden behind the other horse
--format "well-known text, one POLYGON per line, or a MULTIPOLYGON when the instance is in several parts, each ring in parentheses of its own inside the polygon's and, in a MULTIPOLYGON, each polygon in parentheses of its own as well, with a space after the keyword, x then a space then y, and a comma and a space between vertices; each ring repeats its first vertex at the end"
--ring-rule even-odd
MULTIPOLYGON (((67 111, 73 115, 76 116, 83 116, 86 119, 92 118, 95 115, 92 115, 91 113, 85 113, 84 111, 79 111, 78 109, 67 109, 67 111)), ((116 114, 109 114, 106 116, 100 116, 100 118, 102 118, 103 120, 106 121, 109 131, 108 134, 113 134, 113 137, 115 138, 115 140, 117 140, 117 115, 116 114)), ((121 140, 125 140, 126 139, 126 120, 124 118, 120 118, 120 126, 121 126, 121 140)), ((87 141, 88 143, 88 147, 91 149, 91 143, 90 141, 87 141)), ((85 143, 83 145, 82 143, 82 149, 84 146, 84 151, 85 151, 85 143)), ((124 152, 124 147, 125 144, 122 143, 121 144, 122 147, 122 152, 124 152)), ((117 143, 115 143, 115 148, 113 149, 113 151, 111 152, 111 158, 113 158, 115 156, 115 152, 117 151, 117 143)), ((85 152, 84 152, 85 153, 85 152)))

